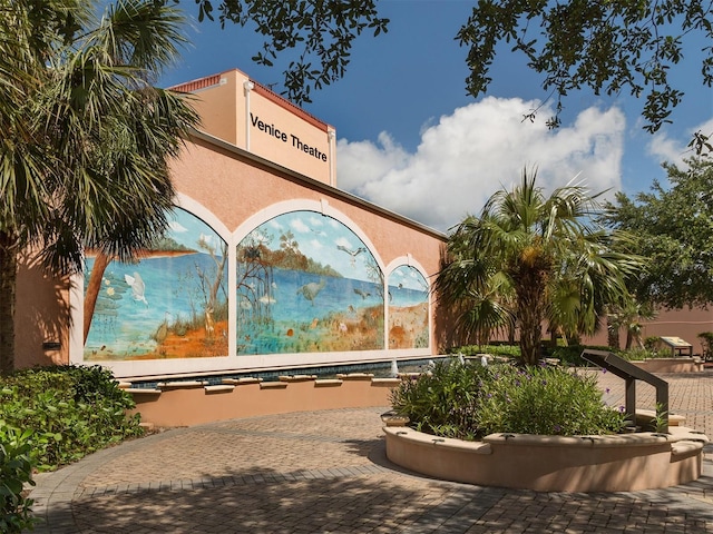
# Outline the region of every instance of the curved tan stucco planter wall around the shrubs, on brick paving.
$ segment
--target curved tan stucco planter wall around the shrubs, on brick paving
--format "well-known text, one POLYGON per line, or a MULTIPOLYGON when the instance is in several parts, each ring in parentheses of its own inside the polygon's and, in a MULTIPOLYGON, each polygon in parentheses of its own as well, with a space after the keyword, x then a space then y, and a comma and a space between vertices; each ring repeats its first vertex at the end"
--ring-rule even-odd
POLYGON ((685 427, 672 434, 539 436, 491 434, 481 442, 442 438, 384 426, 387 456, 434 478, 538 492, 628 492, 667 487, 701 476, 707 437, 685 427))

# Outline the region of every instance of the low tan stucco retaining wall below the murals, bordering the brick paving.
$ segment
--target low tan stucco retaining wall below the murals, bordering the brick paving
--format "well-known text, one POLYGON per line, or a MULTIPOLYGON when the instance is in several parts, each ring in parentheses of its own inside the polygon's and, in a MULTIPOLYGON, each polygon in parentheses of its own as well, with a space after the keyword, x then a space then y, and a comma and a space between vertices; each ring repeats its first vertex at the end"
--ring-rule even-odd
POLYGON ((123 387, 134 397, 133 413, 141 414, 143 422, 174 427, 290 412, 388 406, 399 382, 355 373, 335 379, 295 375, 276 382, 241 378, 218 385, 195 380, 160 383, 155 389, 123 387))

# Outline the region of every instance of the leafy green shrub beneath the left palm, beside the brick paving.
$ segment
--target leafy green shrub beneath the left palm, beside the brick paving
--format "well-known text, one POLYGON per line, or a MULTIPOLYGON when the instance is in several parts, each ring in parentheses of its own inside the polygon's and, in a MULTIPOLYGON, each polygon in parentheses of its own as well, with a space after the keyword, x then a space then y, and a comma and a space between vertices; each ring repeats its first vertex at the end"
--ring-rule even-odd
POLYGON ((110 372, 99 366, 26 369, 0 378, 0 421, 33 432, 31 461, 50 471, 143 429, 110 372))

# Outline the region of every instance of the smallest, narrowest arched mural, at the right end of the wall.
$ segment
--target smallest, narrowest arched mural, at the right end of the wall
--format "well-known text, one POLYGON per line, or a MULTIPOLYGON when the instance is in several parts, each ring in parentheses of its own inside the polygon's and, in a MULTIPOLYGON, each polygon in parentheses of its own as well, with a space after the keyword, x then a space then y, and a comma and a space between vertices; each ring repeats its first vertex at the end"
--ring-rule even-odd
POLYGON ((428 283, 402 265, 389 276, 389 348, 429 347, 428 283))

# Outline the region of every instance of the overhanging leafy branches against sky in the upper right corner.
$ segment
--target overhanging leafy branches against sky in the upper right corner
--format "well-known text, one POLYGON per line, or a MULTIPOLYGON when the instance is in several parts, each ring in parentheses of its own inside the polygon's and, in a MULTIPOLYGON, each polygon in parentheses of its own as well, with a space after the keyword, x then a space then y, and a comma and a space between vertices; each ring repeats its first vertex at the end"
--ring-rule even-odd
POLYGON ((704 43, 701 76, 711 87, 710 0, 479 0, 458 32, 460 43, 470 47, 467 86, 473 96, 487 90, 497 46, 505 41, 545 75, 543 88, 557 100, 550 126, 559 123, 564 98, 588 87, 596 95, 628 91, 643 98, 649 132, 671 122, 673 108, 684 97, 670 72, 694 37, 704 43))

